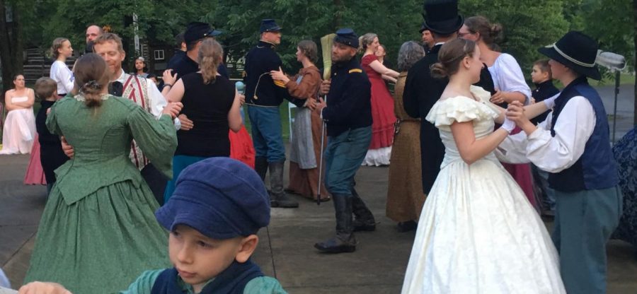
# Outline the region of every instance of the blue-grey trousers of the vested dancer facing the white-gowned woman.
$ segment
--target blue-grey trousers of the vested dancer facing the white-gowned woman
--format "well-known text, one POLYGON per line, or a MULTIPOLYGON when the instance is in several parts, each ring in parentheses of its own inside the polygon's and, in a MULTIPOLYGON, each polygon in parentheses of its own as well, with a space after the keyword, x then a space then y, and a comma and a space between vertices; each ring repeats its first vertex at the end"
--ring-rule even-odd
POLYGON ((619 187, 566 193, 555 191, 553 243, 567 293, 606 293, 606 242, 619 224, 619 187))

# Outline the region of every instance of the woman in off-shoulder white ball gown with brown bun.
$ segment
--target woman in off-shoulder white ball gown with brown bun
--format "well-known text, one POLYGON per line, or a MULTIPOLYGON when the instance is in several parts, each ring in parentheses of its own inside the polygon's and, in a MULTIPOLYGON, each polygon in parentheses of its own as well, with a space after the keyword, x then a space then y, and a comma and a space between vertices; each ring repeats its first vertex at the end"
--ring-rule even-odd
POLYGON ((452 40, 438 57, 432 73, 449 84, 426 119, 440 129, 445 155, 402 293, 566 293, 544 223, 493 153, 515 124, 471 86, 483 66, 479 48, 452 40), (494 122, 503 127, 493 131, 494 122))

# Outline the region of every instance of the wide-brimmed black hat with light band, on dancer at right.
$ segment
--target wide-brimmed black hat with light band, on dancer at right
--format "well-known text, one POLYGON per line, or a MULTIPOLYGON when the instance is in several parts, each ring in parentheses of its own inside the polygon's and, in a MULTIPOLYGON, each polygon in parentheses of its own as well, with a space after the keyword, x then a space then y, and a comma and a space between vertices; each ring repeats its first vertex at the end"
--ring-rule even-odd
POLYGON ((576 73, 595 80, 602 78, 595 65, 597 42, 583 33, 570 31, 558 42, 539 48, 537 51, 573 69, 576 73))

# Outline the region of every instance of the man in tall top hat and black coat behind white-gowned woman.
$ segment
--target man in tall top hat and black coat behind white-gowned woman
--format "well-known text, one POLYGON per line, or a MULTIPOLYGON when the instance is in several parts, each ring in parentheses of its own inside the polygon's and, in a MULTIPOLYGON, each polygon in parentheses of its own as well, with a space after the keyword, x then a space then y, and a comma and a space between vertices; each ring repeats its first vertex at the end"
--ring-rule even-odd
MULTIPOLYGON (((444 146, 438 129, 425 119, 435 102, 440 99, 448 78, 433 78, 430 67, 438 62, 438 52, 444 42, 457 37, 458 30, 464 24, 464 18, 458 15, 457 0, 425 1, 427 13, 423 27, 429 30, 435 45, 427 55, 416 62, 407 74, 403 92, 403 107, 409 116, 420 118, 420 153, 423 170, 423 192, 429 191, 440 172, 440 164, 444 157, 444 146)), ((423 31, 425 31, 423 30, 423 31)), ((493 79, 486 66, 480 73, 481 86, 490 93, 495 93, 493 79)))

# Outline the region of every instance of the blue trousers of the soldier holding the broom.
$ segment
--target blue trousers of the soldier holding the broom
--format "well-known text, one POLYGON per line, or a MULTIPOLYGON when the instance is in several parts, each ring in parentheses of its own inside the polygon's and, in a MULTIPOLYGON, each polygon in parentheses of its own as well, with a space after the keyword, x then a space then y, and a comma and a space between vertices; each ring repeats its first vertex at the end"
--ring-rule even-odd
POLYGON ((338 136, 328 136, 325 186, 331 194, 351 196, 354 176, 365 159, 371 141, 371 126, 350 129, 338 136))

